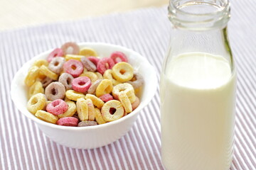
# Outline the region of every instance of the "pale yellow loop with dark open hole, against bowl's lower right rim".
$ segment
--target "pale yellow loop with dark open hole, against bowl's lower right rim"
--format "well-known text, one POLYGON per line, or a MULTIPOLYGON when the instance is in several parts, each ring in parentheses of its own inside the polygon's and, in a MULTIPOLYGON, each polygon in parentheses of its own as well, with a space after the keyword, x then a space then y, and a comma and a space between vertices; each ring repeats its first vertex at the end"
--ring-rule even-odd
POLYGON ((119 118, 122 118, 123 115, 124 108, 122 106, 122 103, 119 101, 108 101, 102 106, 102 118, 107 122, 111 122, 119 118), (113 114, 110 113, 111 108, 114 108, 115 110, 113 114))

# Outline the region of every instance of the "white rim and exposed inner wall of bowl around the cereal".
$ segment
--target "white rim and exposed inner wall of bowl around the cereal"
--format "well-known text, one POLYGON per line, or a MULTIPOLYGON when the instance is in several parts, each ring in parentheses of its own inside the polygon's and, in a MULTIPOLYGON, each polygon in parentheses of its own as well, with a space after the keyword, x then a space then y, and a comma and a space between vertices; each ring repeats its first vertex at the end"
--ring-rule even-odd
POLYGON ((28 73, 28 69, 31 67, 34 61, 38 59, 46 59, 48 54, 52 51, 49 50, 47 52, 43 52, 40 55, 37 55, 36 57, 33 57, 31 60, 26 62, 26 64, 23 64, 23 67, 18 70, 16 73, 12 83, 11 83, 11 98, 14 101, 14 104, 18 108, 21 113, 26 115, 26 117, 30 118, 31 120, 35 121, 36 123, 47 125, 52 128, 60 128, 65 130, 85 130, 85 129, 91 129, 91 128, 100 128, 108 125, 112 125, 114 123, 119 123, 124 121, 129 116, 132 116, 134 114, 139 113, 139 111, 146 106, 149 101, 151 101, 151 98, 153 98, 155 92, 156 92, 156 85, 157 85, 157 79, 156 79, 156 72, 154 70, 154 67, 149 64, 149 62, 146 60, 145 57, 142 57, 142 55, 139 55, 139 53, 134 52, 133 50, 129 50, 126 47, 122 47, 119 45, 111 45, 107 43, 101 43, 101 42, 83 42, 78 44, 80 47, 91 47, 94 50, 97 51, 98 55, 100 57, 109 57, 110 54, 114 51, 121 51, 124 52, 125 55, 127 55, 129 63, 132 64, 134 67, 134 71, 139 72, 142 74, 142 77, 144 77, 144 87, 142 89, 142 95, 140 96, 141 103, 139 104, 139 107, 135 109, 132 113, 124 116, 123 118, 120 118, 119 120, 115 120, 110 123, 105 123, 102 125, 97 126, 90 126, 90 127, 83 127, 83 128, 76 128, 76 127, 65 127, 60 125, 54 125, 51 123, 46 123, 43 120, 39 120, 36 118, 33 114, 29 113, 26 105, 28 102, 27 93, 28 88, 24 84, 24 79, 26 77, 26 74, 28 73))

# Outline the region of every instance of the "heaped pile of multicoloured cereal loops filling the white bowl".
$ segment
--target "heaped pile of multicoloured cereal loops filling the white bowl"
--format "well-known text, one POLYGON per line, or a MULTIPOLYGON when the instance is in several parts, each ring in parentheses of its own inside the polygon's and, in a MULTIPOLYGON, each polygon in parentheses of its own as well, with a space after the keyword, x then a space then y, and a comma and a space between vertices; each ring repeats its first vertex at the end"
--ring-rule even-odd
POLYGON ((139 106, 143 85, 123 52, 97 57, 95 50, 66 42, 37 60, 25 79, 28 111, 48 123, 90 126, 122 118, 139 106))

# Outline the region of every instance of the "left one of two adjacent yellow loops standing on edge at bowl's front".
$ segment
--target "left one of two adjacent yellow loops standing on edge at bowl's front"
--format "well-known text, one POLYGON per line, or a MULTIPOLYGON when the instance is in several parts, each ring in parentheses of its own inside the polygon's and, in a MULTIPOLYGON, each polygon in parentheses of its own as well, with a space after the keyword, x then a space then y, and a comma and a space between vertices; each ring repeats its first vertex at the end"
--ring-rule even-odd
POLYGON ((78 98, 78 101, 76 103, 77 111, 78 111, 78 117, 81 121, 85 121, 89 119, 88 114, 88 105, 87 101, 85 101, 85 98, 78 98))

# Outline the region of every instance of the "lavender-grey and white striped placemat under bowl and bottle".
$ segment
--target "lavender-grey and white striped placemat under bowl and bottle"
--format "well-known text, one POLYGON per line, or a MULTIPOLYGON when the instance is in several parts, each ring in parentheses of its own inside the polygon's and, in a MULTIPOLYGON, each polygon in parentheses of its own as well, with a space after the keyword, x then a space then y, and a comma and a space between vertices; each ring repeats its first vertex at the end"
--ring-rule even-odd
MULTIPOLYGON (((230 41, 238 66, 235 154, 232 170, 256 167, 256 15, 253 0, 234 1, 230 41)), ((0 169, 164 169, 161 165, 159 88, 132 130, 97 149, 71 149, 50 141, 14 107, 10 84, 31 57, 66 41, 110 42, 139 53, 161 70, 171 23, 166 6, 82 21, 0 33, 0 169)))

